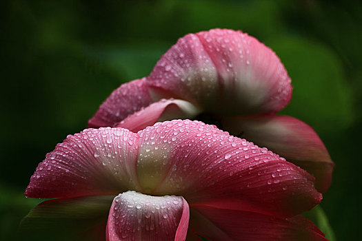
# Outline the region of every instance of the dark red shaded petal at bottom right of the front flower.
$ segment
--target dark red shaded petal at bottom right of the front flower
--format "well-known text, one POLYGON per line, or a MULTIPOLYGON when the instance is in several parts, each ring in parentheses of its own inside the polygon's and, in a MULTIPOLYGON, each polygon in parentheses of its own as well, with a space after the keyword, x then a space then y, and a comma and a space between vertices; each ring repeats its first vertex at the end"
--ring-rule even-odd
POLYGON ((327 240, 307 218, 200 207, 190 209, 190 229, 210 240, 327 240))

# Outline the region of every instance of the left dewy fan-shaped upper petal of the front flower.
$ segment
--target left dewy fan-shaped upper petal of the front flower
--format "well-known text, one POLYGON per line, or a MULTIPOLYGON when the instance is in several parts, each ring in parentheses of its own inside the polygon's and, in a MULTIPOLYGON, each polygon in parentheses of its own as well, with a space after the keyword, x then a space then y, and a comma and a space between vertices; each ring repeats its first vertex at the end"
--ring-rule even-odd
POLYGON ((137 190, 137 134, 122 128, 85 129, 67 136, 30 178, 31 198, 70 198, 137 190))

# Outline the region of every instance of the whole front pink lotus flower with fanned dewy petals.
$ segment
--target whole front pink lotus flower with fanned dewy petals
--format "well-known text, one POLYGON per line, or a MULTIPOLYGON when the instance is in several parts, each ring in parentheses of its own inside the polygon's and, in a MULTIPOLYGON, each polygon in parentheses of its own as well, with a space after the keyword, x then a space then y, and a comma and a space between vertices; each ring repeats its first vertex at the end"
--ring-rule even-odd
POLYGON ((325 240, 299 216, 321 201, 313 181, 272 151, 177 120, 138 133, 107 127, 69 135, 39 164, 26 196, 61 198, 39 205, 35 218, 109 213, 106 225, 86 230, 100 240, 325 240))

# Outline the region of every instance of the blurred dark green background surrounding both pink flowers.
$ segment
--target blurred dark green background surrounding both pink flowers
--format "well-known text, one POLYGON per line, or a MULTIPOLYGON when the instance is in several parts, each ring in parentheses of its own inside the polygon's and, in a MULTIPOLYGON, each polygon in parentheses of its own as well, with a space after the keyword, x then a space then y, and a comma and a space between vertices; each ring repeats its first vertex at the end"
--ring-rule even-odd
POLYGON ((336 163, 321 206, 338 240, 362 240, 362 4, 313 0, 1 1, 0 240, 40 202, 23 191, 46 153, 179 37, 210 28, 281 57, 294 85, 283 113, 314 127, 336 163))

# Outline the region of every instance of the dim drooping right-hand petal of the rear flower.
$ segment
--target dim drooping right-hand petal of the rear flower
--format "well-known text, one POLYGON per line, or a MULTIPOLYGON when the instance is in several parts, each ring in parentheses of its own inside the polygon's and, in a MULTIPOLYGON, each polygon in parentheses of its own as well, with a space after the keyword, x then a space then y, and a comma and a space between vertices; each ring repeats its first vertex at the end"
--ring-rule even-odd
POLYGON ((330 187, 334 163, 318 134, 303 121, 290 116, 225 118, 223 127, 313 174, 321 193, 330 187))

